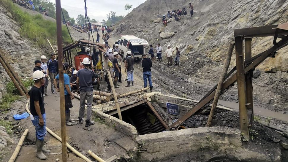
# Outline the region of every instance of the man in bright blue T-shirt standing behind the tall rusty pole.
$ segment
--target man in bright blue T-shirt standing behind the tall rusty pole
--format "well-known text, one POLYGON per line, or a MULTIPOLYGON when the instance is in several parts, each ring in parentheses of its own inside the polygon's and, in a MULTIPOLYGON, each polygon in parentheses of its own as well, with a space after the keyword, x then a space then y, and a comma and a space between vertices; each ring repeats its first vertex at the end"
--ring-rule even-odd
MULTIPOLYGON (((70 108, 73 107, 72 105, 72 99, 74 99, 74 96, 71 92, 70 87, 70 80, 68 74, 66 74, 66 71, 68 71, 69 64, 67 62, 64 63, 63 66, 63 73, 64 73, 64 98, 65 98, 65 117, 66 117, 66 126, 72 126, 73 124, 70 123, 71 121, 74 121, 70 119, 70 108)), ((57 81, 59 80, 59 74, 54 79, 54 84, 57 85, 57 81)), ((58 89, 58 88, 57 88, 58 89)))

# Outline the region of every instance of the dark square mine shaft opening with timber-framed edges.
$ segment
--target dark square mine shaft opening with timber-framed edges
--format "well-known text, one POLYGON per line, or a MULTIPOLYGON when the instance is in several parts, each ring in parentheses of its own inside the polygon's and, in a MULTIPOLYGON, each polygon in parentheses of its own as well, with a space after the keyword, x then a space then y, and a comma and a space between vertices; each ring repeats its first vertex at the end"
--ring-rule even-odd
MULTIPOLYGON (((168 128, 149 101, 138 101, 120 109, 123 121, 134 126, 138 135, 158 133, 168 128)), ((108 112, 108 114, 119 118, 115 111, 108 112)))

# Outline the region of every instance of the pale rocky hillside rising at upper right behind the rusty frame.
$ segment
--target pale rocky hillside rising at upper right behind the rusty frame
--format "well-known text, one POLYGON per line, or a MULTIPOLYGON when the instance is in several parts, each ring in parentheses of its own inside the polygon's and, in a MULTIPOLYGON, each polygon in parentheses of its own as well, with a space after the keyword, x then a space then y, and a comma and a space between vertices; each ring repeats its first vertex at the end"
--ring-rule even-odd
MULTIPOLYGON (((225 59, 234 29, 273 25, 288 22, 288 1, 285 0, 193 0, 194 15, 181 16, 180 21, 169 20, 163 27, 162 15, 168 10, 189 7, 185 0, 147 0, 133 9, 117 26, 114 34, 134 34, 150 44, 160 42, 163 47, 179 46, 182 63, 188 65, 193 55, 204 54, 213 61, 225 59)), ((253 39, 252 55, 272 45, 272 38, 253 39)), ((259 66, 262 71, 276 67, 288 71, 288 47, 280 50, 276 58, 269 58, 259 66)), ((191 62, 191 61, 190 61, 191 62)), ((232 58, 235 65, 235 58, 232 58)), ((192 65, 193 66, 193 65, 192 65)))

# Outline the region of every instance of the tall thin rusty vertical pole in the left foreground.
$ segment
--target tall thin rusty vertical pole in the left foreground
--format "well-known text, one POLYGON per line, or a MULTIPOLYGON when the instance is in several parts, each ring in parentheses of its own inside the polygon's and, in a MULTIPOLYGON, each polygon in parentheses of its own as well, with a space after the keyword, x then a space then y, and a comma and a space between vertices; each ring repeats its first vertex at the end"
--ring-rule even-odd
POLYGON ((62 161, 67 162, 64 74, 63 74, 63 62, 62 62, 62 60, 63 60, 63 48, 62 48, 61 0, 56 0, 56 26, 57 26, 59 90, 60 90, 62 161))

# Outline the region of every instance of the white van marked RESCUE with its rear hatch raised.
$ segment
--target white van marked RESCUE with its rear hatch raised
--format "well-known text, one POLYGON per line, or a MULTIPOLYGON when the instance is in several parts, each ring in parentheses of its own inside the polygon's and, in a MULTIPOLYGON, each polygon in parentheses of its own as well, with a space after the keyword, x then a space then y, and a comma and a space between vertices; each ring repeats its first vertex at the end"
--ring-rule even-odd
POLYGON ((118 44, 122 60, 125 61, 126 52, 131 50, 132 54, 134 54, 134 59, 140 61, 142 59, 142 55, 145 54, 145 45, 149 45, 149 43, 145 39, 140 39, 133 35, 121 35, 121 39, 119 39, 113 45, 113 49, 115 45, 118 44))

